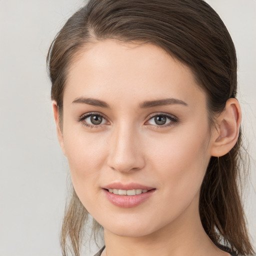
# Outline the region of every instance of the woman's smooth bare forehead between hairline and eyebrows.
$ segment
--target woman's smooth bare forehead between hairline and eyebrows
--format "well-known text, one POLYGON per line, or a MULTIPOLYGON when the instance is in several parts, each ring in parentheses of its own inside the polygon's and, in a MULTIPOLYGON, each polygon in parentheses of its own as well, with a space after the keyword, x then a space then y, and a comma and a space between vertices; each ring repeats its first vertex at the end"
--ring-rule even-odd
POLYGON ((162 48, 110 39, 88 45, 71 64, 63 102, 79 96, 119 106, 163 97, 205 103, 192 71, 162 48))

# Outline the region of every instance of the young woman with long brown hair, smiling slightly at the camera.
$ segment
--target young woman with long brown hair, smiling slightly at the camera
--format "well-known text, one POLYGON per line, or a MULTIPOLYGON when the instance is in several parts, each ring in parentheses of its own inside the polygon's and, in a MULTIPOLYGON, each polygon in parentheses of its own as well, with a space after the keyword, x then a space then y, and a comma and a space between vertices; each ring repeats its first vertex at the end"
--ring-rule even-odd
POLYGON ((48 57, 73 195, 61 234, 80 255, 253 255, 237 187, 236 54, 202 0, 89 0, 48 57))

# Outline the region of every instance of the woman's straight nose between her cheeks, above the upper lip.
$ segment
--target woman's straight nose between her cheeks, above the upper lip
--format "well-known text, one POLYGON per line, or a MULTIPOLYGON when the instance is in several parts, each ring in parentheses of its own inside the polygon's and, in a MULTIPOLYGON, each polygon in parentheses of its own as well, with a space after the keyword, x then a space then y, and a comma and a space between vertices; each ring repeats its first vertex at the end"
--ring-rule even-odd
POLYGON ((112 130, 107 165, 119 172, 131 172, 144 167, 143 148, 138 132, 127 123, 112 130))

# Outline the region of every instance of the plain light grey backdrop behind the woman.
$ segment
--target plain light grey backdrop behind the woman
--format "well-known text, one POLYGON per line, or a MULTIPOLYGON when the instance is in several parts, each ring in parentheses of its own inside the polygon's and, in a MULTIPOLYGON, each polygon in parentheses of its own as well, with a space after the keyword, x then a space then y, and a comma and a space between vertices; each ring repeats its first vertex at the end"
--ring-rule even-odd
MULTIPOLYGON (((256 1, 208 0, 238 55, 251 182, 245 211, 256 246, 256 1)), ((60 255, 67 162, 55 135, 45 58, 81 0, 0 0, 0 255, 60 255)))

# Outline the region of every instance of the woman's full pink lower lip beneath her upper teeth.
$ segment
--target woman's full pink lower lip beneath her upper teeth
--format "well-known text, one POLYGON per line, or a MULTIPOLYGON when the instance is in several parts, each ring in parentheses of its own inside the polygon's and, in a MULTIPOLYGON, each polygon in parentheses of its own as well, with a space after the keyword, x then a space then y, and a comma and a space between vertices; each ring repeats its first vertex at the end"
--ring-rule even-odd
POLYGON ((103 189, 106 198, 114 205, 122 208, 135 207, 148 199, 155 189, 148 190, 145 193, 135 194, 135 195, 119 195, 108 192, 108 190, 103 189))

